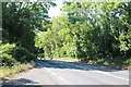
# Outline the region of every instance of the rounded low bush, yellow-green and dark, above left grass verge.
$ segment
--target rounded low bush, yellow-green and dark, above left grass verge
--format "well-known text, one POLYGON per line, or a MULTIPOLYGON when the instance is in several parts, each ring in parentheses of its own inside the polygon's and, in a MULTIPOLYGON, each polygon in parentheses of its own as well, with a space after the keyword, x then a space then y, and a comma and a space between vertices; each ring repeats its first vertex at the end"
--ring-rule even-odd
POLYGON ((10 44, 2 45, 2 62, 8 66, 13 65, 16 61, 25 63, 35 60, 35 55, 27 49, 10 44))

